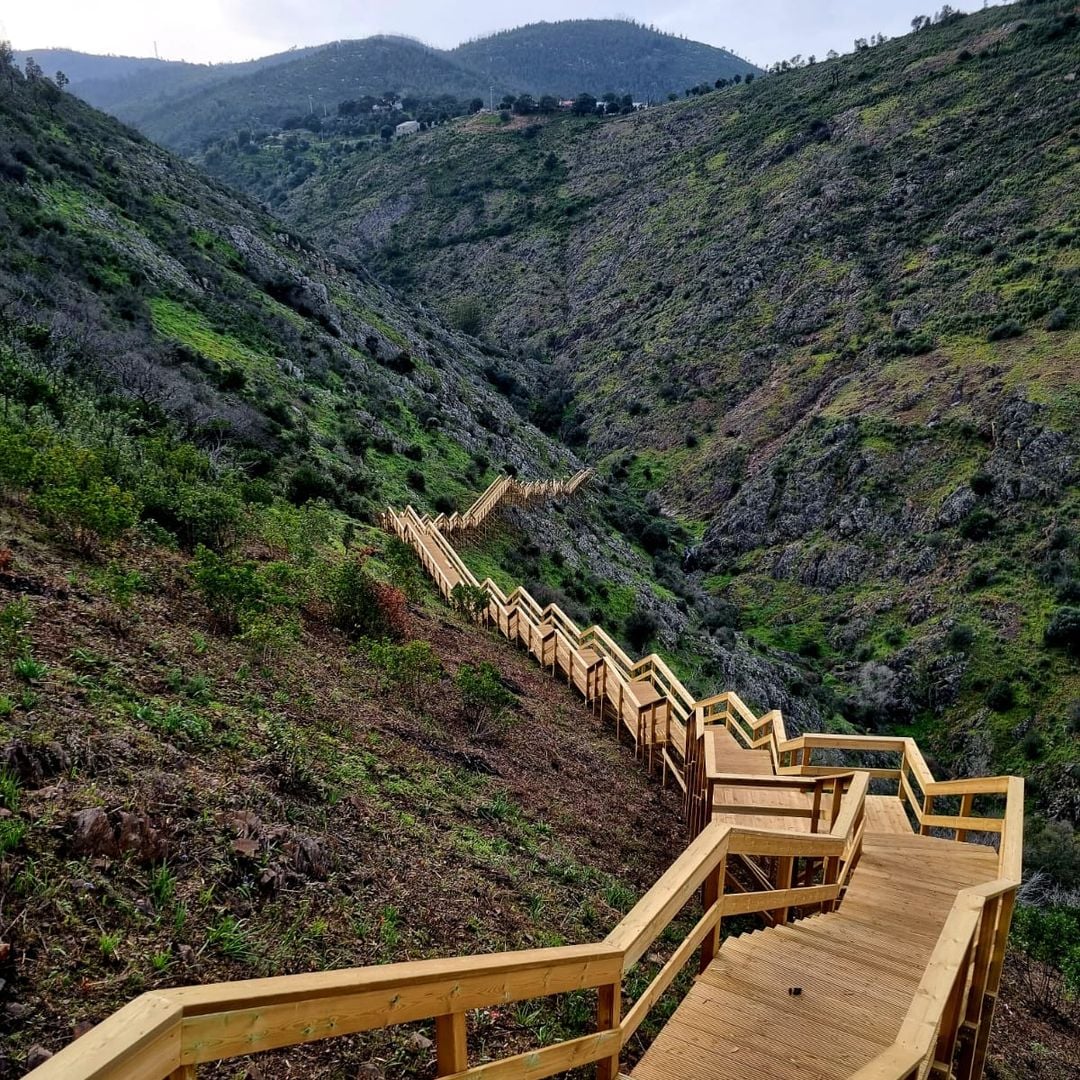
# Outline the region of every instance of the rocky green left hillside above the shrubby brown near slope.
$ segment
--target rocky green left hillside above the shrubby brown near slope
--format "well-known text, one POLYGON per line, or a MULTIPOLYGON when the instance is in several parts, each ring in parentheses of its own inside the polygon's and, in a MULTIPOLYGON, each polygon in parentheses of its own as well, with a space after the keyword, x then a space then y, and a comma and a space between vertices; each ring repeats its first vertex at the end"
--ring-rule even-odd
POLYGON ((0 95, 0 170, 25 380, 119 393, 121 427, 219 444, 279 489, 318 465, 318 494, 361 518, 464 497, 496 461, 567 467, 471 342, 48 81, 0 95))

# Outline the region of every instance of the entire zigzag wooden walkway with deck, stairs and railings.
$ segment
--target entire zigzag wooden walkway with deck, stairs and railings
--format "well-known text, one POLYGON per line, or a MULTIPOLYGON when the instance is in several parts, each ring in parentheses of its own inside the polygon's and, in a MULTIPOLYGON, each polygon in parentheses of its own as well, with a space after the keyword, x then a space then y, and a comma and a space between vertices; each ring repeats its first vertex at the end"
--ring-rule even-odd
POLYGON ((634 662, 600 627, 478 582, 447 539, 508 501, 572 495, 588 475, 500 477, 464 514, 406 508, 384 521, 444 596, 483 590, 477 619, 679 784, 691 839, 660 881, 594 944, 144 994, 35 1080, 192 1080, 203 1063, 418 1021, 434 1022, 440 1077, 540 1080, 595 1063, 598 1080, 625 1080, 625 1048, 694 957, 698 978, 636 1080, 982 1076, 1021 877, 1023 781, 935 781, 912 739, 789 739, 778 711, 757 717, 734 693, 694 701, 661 658, 634 662), (626 976, 699 896, 693 929, 631 1000, 626 976), (721 945, 721 920, 751 914, 762 929, 721 945), (474 1010, 581 989, 596 991, 594 1034, 470 1062, 474 1010))

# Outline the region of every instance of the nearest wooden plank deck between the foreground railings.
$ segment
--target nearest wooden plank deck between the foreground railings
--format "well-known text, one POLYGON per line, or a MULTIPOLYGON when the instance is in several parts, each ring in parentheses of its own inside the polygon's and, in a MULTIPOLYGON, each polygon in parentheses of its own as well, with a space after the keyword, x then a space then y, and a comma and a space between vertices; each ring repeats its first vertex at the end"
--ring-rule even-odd
POLYGON ((868 833, 840 909, 726 940, 631 1075, 850 1076, 896 1038, 956 893, 997 874, 988 848, 868 833))

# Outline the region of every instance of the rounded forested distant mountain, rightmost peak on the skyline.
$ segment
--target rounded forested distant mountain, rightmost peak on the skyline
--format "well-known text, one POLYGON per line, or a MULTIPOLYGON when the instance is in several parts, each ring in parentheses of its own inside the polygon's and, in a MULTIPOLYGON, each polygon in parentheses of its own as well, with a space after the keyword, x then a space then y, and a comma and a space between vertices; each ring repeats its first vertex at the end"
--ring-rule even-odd
POLYGON ((492 83, 564 97, 612 91, 654 100, 758 70, 725 49, 613 18, 535 23, 469 41, 450 55, 492 83))

